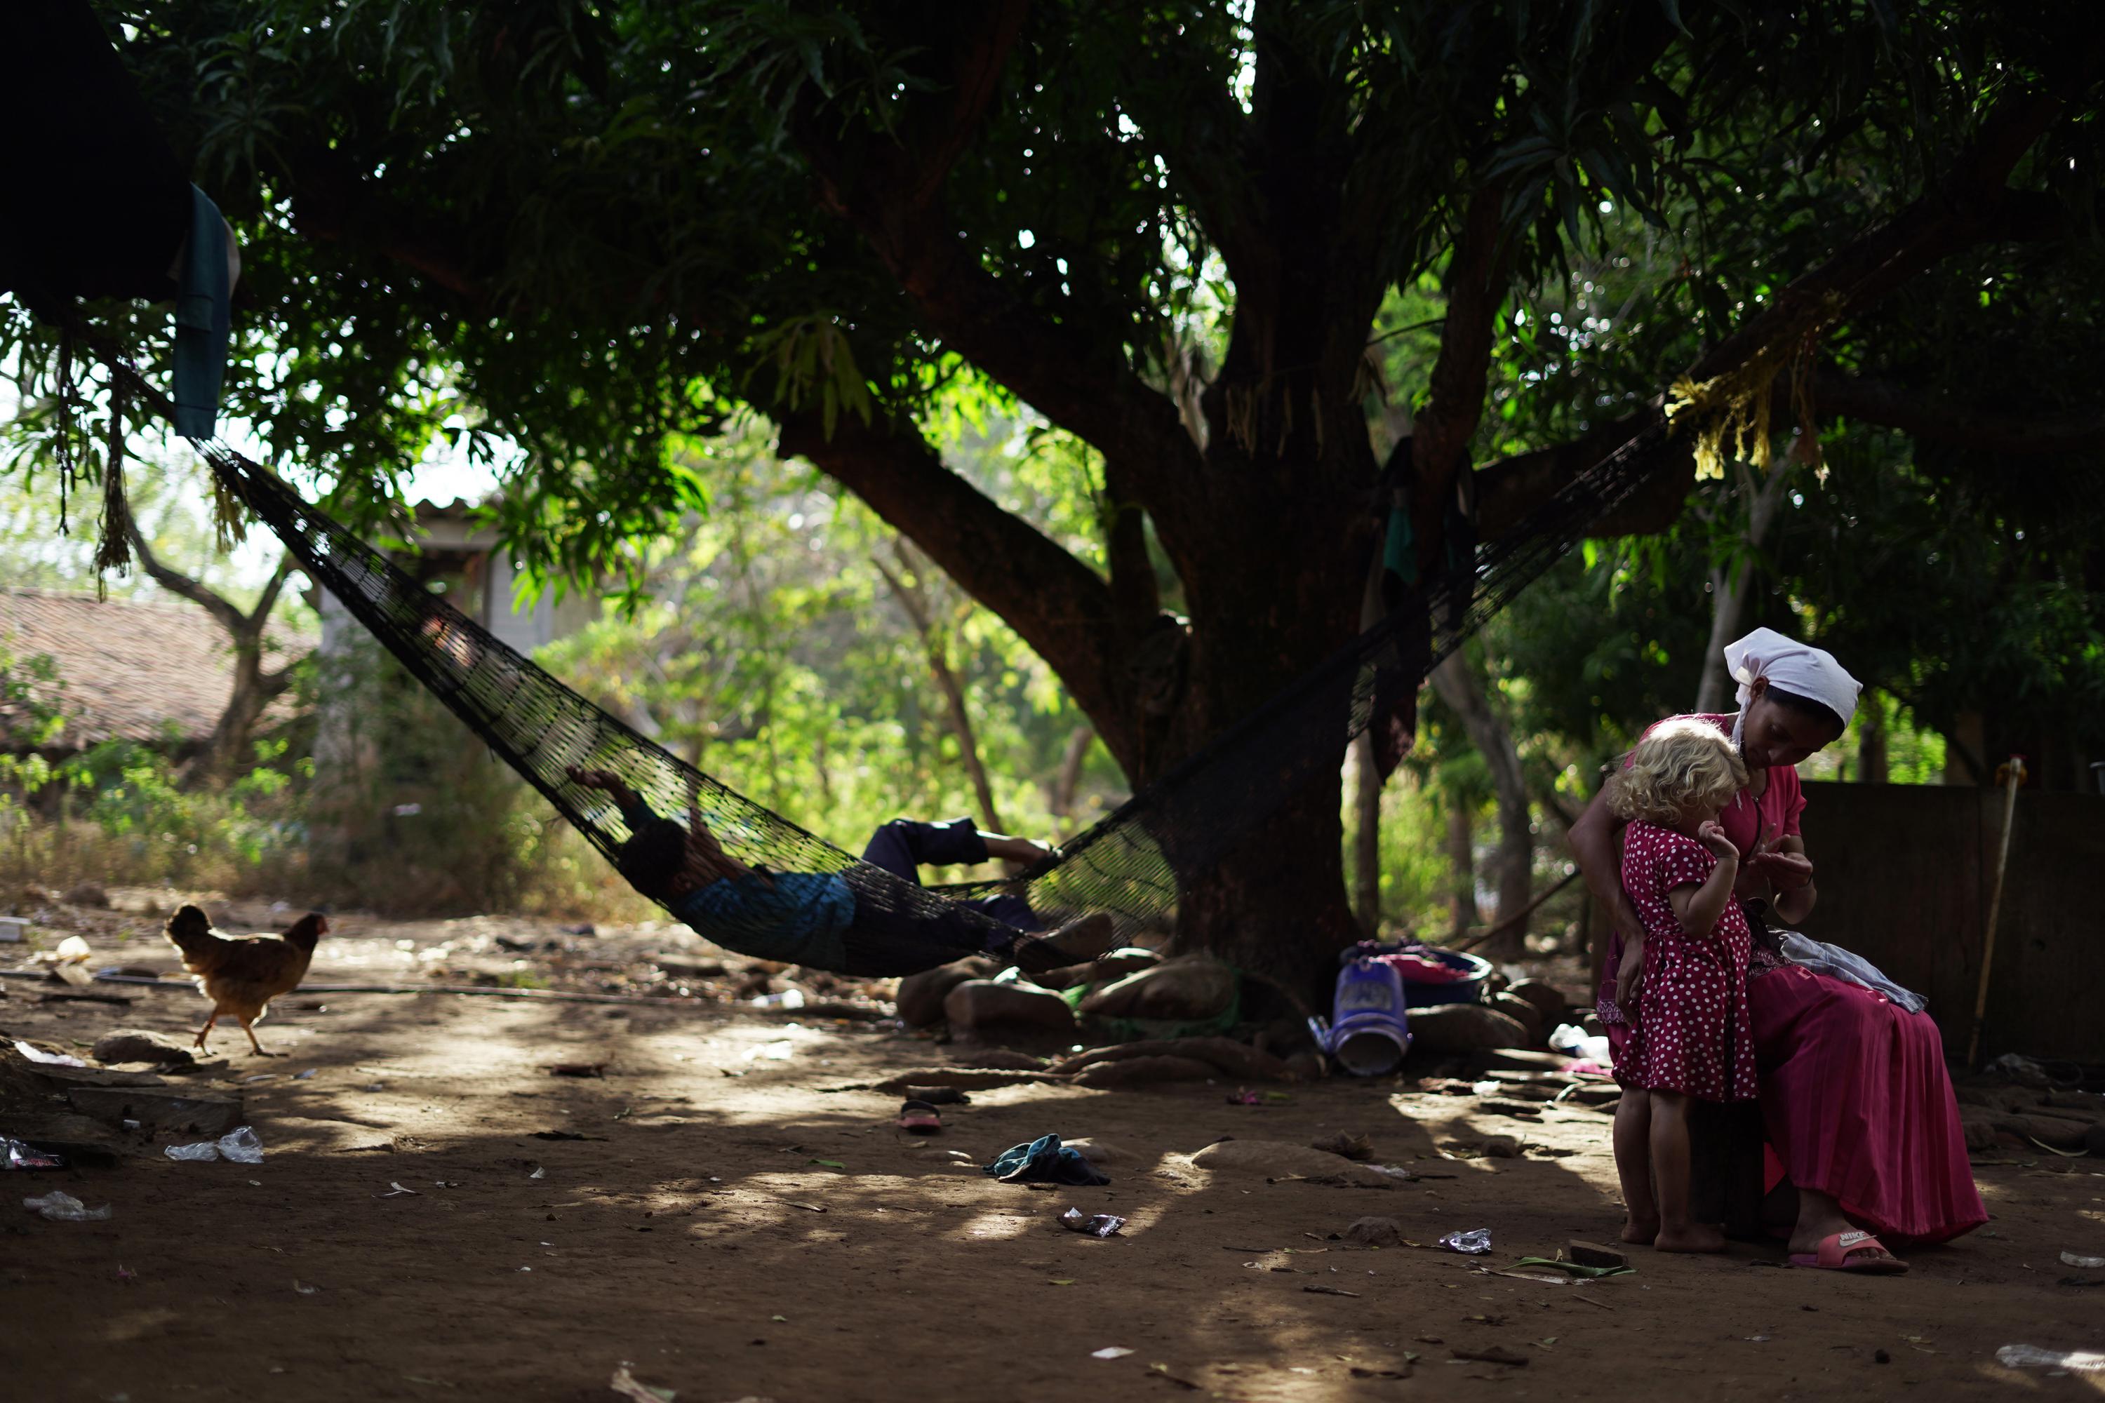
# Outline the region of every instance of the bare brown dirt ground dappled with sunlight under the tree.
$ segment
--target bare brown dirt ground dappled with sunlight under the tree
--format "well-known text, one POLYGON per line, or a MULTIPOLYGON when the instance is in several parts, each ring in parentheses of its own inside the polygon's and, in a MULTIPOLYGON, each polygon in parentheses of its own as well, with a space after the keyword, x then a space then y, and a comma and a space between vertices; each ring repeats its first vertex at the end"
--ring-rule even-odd
MULTIPOLYGON (((122 947, 120 930, 118 917, 97 928, 97 963, 175 968, 149 926, 122 947)), ((114 1216, 0 1209, 0 1392, 608 1399, 623 1365, 686 1403, 2105 1390, 2105 1376, 1993 1359, 2017 1342, 2105 1348, 2105 1292, 2061 1285, 2105 1273, 2059 1262, 2105 1254, 2099 1161, 1981 1165, 1996 1222, 1911 1254, 1901 1279, 1779 1268, 1781 1245, 1735 1245, 1640 1249, 1636 1275, 1553 1285, 1484 1268, 1612 1239, 1608 1117, 1593 1109, 1516 1121, 1408 1079, 1290 1085, 1257 1106, 1215 1083, 1017 1085, 973 1092, 945 1109, 943 1134, 909 1138, 893 1127, 897 1098, 848 1087, 970 1064, 968 1050, 831 1018, 857 1010, 819 999, 754 1008, 751 991, 783 980, 737 959, 711 974, 686 932, 339 917, 309 984, 440 972, 619 991, 648 959, 659 984, 690 978, 720 1001, 301 993, 261 1029, 288 1054, 276 1060, 221 1029, 225 1064, 183 1085, 242 1094, 265 1161, 175 1163, 141 1142, 118 1167, 8 1176, 17 1203, 57 1186, 114 1216), (577 1079, 552 1075, 558 1062, 606 1066, 577 1079), (1223 1136, 1305 1144, 1339 1130, 1425 1178, 1335 1188, 1189 1163, 1223 1136), (1111 1184, 1029 1191, 979 1174, 1044 1132, 1120 1151, 1103 1161, 1111 1184), (1526 1157, 1452 1157, 1486 1134, 1524 1136, 1526 1157), (1128 1224, 1078 1237, 1055 1222, 1069 1205, 1128 1224), (1488 1226, 1495 1252, 1332 1239, 1366 1214, 1421 1243, 1488 1226), (1452 1357, 1488 1346, 1526 1363, 1452 1357), (1130 1353, 1092 1357, 1103 1348, 1130 1353)), ((187 987, 126 989, 128 1008, 6 987, 0 1029, 82 1054, 114 1026, 187 1037, 204 1012, 187 987)))

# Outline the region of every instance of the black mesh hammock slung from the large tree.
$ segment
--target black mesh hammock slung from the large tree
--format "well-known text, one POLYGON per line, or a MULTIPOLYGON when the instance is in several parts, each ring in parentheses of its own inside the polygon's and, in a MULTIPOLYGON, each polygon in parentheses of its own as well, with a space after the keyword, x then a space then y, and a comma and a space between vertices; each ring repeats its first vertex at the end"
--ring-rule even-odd
MULTIPOLYGON (((112 374, 137 402, 160 400, 128 364, 112 362, 112 374)), ((1655 423, 1572 477, 1513 530, 1480 545, 1474 572, 1419 585, 1383 623, 1055 856, 1010 881, 949 888, 920 888, 859 862, 701 774, 490 637, 381 551, 301 501, 269 469, 219 440, 192 444, 299 566, 602 854, 619 856, 629 825, 604 791, 577 785, 570 768, 608 770, 657 814, 699 818, 728 854, 756 869, 838 875, 853 892, 855 919, 840 932, 825 968, 882 978, 979 951, 1015 953, 1034 938, 964 904, 970 898, 1023 896, 1046 923, 1109 913, 1120 934, 1135 934, 1170 913, 1181 883, 1202 875, 1307 785, 1326 774, 1335 778, 1349 740, 1387 715, 1398 698, 1412 696, 1440 658, 1560 560, 1591 522, 1625 501, 1657 463, 1648 448, 1663 433, 1655 423)), ((834 900, 829 911, 838 911, 838 883, 800 881, 781 890, 808 892, 813 902, 834 900)), ((711 919, 699 934, 733 951, 796 959, 783 953, 779 932, 785 923, 813 923, 817 915, 787 911, 785 900, 711 919)))

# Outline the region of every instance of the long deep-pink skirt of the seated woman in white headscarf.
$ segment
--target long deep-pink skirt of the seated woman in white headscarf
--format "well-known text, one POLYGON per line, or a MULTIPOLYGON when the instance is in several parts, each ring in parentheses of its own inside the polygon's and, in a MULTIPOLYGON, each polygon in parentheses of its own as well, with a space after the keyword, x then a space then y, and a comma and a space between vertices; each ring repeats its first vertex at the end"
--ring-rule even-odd
POLYGON ((1928 1014, 1800 968, 1749 978, 1747 1012, 1762 1119, 1793 1184, 1882 1237, 1941 1243, 1987 1222, 1928 1014))

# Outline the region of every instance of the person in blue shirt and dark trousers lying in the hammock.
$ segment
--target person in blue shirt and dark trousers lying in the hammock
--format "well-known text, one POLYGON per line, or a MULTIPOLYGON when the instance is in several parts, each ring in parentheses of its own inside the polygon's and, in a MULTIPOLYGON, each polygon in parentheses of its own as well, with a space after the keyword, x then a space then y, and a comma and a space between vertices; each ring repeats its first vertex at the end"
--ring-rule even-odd
POLYGON ((916 892, 920 862, 1034 862, 1050 848, 1031 839, 966 831, 962 820, 899 818, 878 829, 863 862, 846 871, 777 873, 726 852, 697 806, 688 806, 680 825, 606 770, 573 766, 568 774, 575 785, 604 791, 621 810, 629 839, 615 867, 629 886, 697 934, 754 959, 888 978, 964 955, 996 955, 1036 974, 1095 959, 1116 938, 1105 913, 1031 934, 1042 921, 1021 896, 951 902, 916 892))

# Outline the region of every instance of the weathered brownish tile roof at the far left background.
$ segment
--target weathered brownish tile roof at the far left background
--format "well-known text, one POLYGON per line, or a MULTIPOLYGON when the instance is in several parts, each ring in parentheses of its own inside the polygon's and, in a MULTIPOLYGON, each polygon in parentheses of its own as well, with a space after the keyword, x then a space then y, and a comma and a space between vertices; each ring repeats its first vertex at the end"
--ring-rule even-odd
MULTIPOLYGON (((263 667, 276 671, 309 652, 316 637, 272 629, 263 667)), ((196 604, 97 599, 93 593, 0 587, 0 652, 48 654, 57 686, 32 684, 65 711, 65 730, 46 753, 103 740, 202 745, 234 690, 225 631, 196 604)), ((0 751, 13 751, 0 713, 0 751)))

